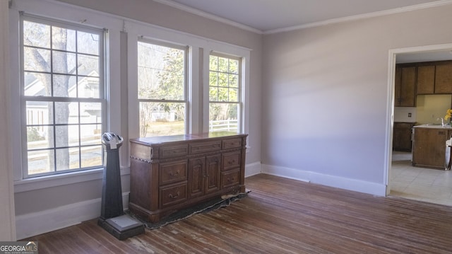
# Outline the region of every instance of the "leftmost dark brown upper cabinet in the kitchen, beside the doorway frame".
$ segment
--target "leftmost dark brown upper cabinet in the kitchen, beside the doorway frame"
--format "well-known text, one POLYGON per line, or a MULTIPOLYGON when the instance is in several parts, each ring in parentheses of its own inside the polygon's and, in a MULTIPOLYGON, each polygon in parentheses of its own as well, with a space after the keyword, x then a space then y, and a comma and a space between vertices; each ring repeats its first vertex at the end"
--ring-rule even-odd
POLYGON ((396 67, 395 106, 416 106, 416 67, 396 67))

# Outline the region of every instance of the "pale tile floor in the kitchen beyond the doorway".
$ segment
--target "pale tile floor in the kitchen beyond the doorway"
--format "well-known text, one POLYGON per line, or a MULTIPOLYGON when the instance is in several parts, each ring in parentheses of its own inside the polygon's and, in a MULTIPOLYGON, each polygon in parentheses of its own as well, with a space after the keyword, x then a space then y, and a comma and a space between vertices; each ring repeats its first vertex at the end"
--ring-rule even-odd
POLYGON ((393 151, 390 196, 452 206, 452 171, 411 166, 411 153, 393 151))

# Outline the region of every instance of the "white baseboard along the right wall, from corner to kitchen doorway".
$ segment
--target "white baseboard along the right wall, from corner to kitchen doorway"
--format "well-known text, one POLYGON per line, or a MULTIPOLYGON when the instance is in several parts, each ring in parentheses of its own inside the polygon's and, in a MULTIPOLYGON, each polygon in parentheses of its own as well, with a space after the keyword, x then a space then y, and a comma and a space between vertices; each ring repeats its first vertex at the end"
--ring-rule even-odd
POLYGON ((343 178, 335 175, 325 175, 311 171, 302 171, 295 168, 285 168, 262 164, 262 173, 278 175, 284 178, 302 180, 309 183, 317 183, 345 190, 364 192, 371 195, 386 196, 386 185, 371 183, 363 180, 343 178))

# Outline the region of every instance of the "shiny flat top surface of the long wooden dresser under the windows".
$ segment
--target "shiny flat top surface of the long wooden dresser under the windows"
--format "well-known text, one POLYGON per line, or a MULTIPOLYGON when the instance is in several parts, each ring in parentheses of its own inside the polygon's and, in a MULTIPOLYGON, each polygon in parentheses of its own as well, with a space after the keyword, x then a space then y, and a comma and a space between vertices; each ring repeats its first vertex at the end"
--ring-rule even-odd
POLYGON ((240 134, 235 132, 208 132, 201 134, 184 134, 173 136, 160 136, 160 137, 141 137, 138 139, 130 139, 134 143, 144 144, 165 144, 168 142, 184 142, 184 141, 196 141, 200 139, 218 139, 227 137, 246 137, 247 134, 240 134))

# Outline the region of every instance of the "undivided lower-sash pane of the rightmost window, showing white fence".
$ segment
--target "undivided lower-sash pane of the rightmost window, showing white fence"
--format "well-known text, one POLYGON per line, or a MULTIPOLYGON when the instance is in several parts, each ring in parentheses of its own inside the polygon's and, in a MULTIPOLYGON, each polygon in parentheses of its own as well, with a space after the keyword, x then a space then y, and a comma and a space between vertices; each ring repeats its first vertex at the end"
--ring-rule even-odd
POLYGON ((238 109, 236 103, 210 103, 209 132, 238 132, 238 109))

